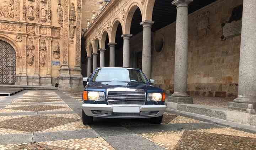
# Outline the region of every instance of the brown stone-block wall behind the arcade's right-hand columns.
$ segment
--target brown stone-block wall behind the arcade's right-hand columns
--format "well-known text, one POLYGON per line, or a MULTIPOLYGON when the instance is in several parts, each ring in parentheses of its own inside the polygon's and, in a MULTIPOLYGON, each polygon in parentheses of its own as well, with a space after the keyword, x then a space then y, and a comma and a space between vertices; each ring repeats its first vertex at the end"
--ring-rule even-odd
MULTIPOLYGON (((225 40, 221 36, 222 23, 228 21, 233 8, 241 4, 242 0, 219 0, 188 16, 188 94, 237 96, 241 36, 225 40), (199 26, 205 16, 208 16, 208 25, 199 26)), ((165 42, 160 52, 154 46, 152 77, 167 93, 174 90, 175 24, 154 35, 154 45, 161 37, 165 42)))

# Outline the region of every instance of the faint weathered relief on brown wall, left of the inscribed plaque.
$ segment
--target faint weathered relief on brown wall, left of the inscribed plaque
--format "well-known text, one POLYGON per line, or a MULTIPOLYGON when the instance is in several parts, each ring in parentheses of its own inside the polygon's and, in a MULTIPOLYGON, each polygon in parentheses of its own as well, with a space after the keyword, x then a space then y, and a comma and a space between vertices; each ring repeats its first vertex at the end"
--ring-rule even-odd
POLYGON ((204 12, 197 16, 197 38, 200 39, 209 34, 210 12, 204 12))

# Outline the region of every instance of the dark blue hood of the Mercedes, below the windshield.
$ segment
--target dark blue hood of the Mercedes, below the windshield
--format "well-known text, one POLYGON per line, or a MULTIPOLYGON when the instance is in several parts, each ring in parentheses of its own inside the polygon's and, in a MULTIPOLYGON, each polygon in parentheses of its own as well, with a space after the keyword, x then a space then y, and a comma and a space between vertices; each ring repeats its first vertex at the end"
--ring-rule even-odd
POLYGON ((108 89, 108 88, 132 88, 132 89, 144 89, 162 91, 160 88, 156 88, 148 83, 137 83, 137 82, 91 82, 87 85, 88 90, 93 89, 108 89))

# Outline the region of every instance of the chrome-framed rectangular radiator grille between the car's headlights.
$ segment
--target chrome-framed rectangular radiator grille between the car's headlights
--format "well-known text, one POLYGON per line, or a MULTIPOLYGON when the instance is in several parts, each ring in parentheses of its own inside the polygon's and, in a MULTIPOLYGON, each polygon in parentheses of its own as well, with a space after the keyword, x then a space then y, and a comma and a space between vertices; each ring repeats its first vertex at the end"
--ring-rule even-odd
POLYGON ((144 105, 146 94, 144 91, 108 91, 107 100, 113 105, 144 105))

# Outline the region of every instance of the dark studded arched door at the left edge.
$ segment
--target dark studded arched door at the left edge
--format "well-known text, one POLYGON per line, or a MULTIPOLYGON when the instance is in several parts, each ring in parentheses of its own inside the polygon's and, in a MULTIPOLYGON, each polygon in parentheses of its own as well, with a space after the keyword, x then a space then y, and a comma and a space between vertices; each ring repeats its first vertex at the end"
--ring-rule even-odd
POLYGON ((15 84, 16 52, 14 48, 0 40, 0 84, 15 84))

